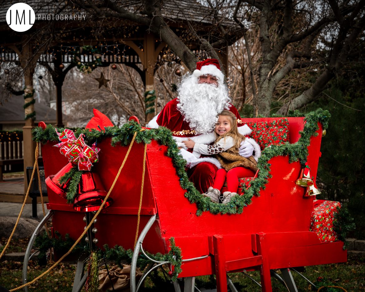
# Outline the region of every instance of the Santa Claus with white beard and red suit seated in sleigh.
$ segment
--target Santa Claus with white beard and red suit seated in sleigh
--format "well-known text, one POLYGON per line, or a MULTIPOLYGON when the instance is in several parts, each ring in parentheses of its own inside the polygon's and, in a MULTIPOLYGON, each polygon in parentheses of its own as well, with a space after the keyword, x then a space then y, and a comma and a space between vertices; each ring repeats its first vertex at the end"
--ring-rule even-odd
MULTIPOLYGON (((214 127, 218 114, 224 109, 237 116, 238 130, 247 137, 241 144, 239 154, 243 157, 254 155, 256 161, 261 154, 260 146, 248 137, 251 129, 242 123, 237 109, 230 103, 228 88, 223 80, 217 59, 197 62, 193 74, 183 77, 177 90, 178 97, 166 104, 147 124, 150 128, 164 126, 172 131, 177 145, 181 147, 181 155, 187 160, 188 176, 201 193, 213 185, 215 173, 221 166, 213 157, 202 157, 199 153, 189 152, 191 149, 187 149, 182 142, 188 138, 203 144, 214 142, 214 127)), ((248 170, 247 176, 251 175, 248 170)))

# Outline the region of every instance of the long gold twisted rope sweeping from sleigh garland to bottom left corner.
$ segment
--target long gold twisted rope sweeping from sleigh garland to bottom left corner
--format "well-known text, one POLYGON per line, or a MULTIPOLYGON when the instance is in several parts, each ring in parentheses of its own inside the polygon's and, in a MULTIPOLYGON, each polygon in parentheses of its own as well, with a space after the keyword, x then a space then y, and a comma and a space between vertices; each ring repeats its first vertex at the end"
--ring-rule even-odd
MULTIPOLYGON (((122 162, 122 165, 120 165, 120 168, 119 168, 119 170, 118 170, 118 173, 117 173, 117 175, 116 175, 116 177, 115 177, 115 179, 114 179, 114 181, 113 181, 113 183, 112 183, 112 185, 111 185, 111 187, 110 187, 110 189, 109 189, 109 192, 107 193, 107 195, 105 196, 105 198, 104 198, 104 200, 103 200, 103 203, 101 203, 101 205, 100 205, 100 208, 99 208, 99 210, 97 210, 97 212, 96 212, 96 214, 94 215, 94 217, 91 219, 91 221, 90 221, 90 223, 89 223, 89 225, 85 228, 85 230, 84 230, 84 232, 80 235, 80 237, 75 241, 75 243, 73 244, 73 246, 71 246, 71 248, 70 248, 70 250, 67 252, 67 253, 65 253, 64 255, 62 255, 62 257, 57 261, 57 262, 55 262, 48 270, 46 270, 45 272, 43 272, 41 275, 39 275, 37 278, 34 278, 32 281, 30 281, 30 282, 28 282, 28 283, 26 283, 26 284, 23 284, 22 286, 19 286, 19 287, 16 287, 16 288, 14 288, 14 289, 11 289, 11 290, 9 290, 10 292, 13 292, 13 291, 17 291, 17 290, 19 290, 19 289, 22 289, 22 288, 24 288, 24 287, 26 287, 26 286, 29 286, 29 285, 31 285, 31 284, 33 284, 33 283, 35 283, 37 280, 39 280, 40 278, 42 278, 43 276, 45 276, 46 274, 48 274, 51 270, 53 270, 54 268, 55 268, 55 266, 57 266, 66 256, 68 256, 70 253, 71 253, 71 251, 74 249, 74 247, 77 245, 77 243, 79 243, 80 242, 80 240, 82 239, 82 237, 84 237, 84 235, 87 233, 87 231, 89 230, 89 228, 91 227, 91 225, 94 223, 94 220, 96 219, 96 217, 99 215, 99 213, 101 212, 101 210, 103 209, 103 207, 104 207, 104 204, 105 204, 105 202, 108 200, 108 197, 109 197, 109 195, 110 195, 110 193, 112 192, 112 190, 113 190, 113 188, 114 188, 114 185, 115 185, 115 183, 116 183, 116 181, 118 180, 118 177, 119 177, 119 175, 120 175, 120 172, 122 171, 122 168, 123 168, 123 166, 124 166, 124 164, 126 163, 126 160, 127 160, 127 158, 128 158, 128 155, 129 155, 129 153, 130 153, 130 151, 131 151, 131 148, 132 148, 132 145, 133 145, 133 142, 134 142, 134 139, 135 139, 135 137, 137 136, 137 132, 134 132, 134 135, 133 135, 133 138, 132 138, 132 141, 131 141, 131 143, 130 143, 130 145, 129 145, 129 148, 128 148, 128 151, 127 151, 127 153, 126 153, 126 156, 124 157, 124 160, 123 160, 123 162, 122 162)), ((33 169, 33 173, 34 173, 34 169, 33 169)))

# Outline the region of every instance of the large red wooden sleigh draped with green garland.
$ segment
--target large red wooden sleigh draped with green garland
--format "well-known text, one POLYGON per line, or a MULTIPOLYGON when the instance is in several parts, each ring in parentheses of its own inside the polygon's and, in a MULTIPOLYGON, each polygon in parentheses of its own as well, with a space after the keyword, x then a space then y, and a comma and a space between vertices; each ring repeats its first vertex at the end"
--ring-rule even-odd
MULTIPOLYGON (((320 111, 320 114, 323 112, 320 111)), ((227 291, 227 273, 257 269, 261 274, 262 291, 272 291, 272 269, 281 269, 282 281, 288 290, 297 291, 289 268, 347 260, 346 250, 342 249, 343 242, 335 241, 335 235, 320 238, 318 230, 315 230, 320 229, 320 224, 313 222, 314 215, 318 219, 316 212, 328 211, 327 214, 331 213, 332 216, 336 209, 328 207, 327 210, 326 206, 333 206, 334 202, 315 201, 315 196, 306 193, 307 188, 296 184, 304 162, 292 162, 297 160, 295 154, 306 155, 311 179, 316 178, 322 124, 318 119, 308 117, 306 120, 303 117, 255 118, 242 119, 242 122, 255 129, 257 126, 265 128, 266 132, 258 133, 260 139, 278 131, 279 138, 285 137, 286 141, 281 141, 282 145, 278 145, 275 137, 271 139, 272 145, 263 145, 269 150, 262 149, 264 151, 259 159, 259 168, 260 165, 262 168, 257 177, 246 178, 246 183, 241 184, 243 195, 233 199, 228 206, 209 202, 208 198, 196 195, 191 183, 186 181, 183 165, 178 161, 177 148, 169 144, 172 138, 164 137, 164 129, 150 130, 130 122, 124 138, 129 143, 134 132, 137 132, 137 138, 129 153, 129 144, 122 146, 118 142, 114 147, 111 146, 118 137, 107 137, 108 130, 101 135, 102 139, 98 139, 99 161, 93 166, 92 173, 100 177, 105 190, 110 189, 124 158, 129 156, 110 193, 110 205, 101 210, 93 223, 97 232, 88 233, 88 239, 100 249, 105 244, 134 249, 136 229, 138 230, 131 264, 131 291, 139 288, 134 278, 139 252, 146 250, 150 253, 168 253, 170 238, 174 238, 176 246, 181 249, 183 262, 178 277, 187 279, 185 289, 189 291, 193 291, 195 276, 215 274, 218 291, 227 291), (282 130, 283 123, 287 127, 286 134, 282 130), (306 123, 307 128, 304 129, 306 123), (143 139, 151 139, 151 143, 146 144, 145 172, 145 144, 140 143, 143 139), (293 154, 290 152, 291 147, 297 147, 295 149, 299 151, 296 150, 293 154), (262 181, 265 184, 261 185, 262 181), (187 185, 185 189, 181 187, 184 184, 187 185), (253 195, 257 189, 260 196, 253 195), (325 204, 318 211, 321 203, 325 204)), ((41 129, 38 130, 42 132, 41 129)), ((60 155, 59 149, 53 147, 55 144, 57 142, 48 141, 42 145, 46 177, 58 173, 69 162, 60 155)), ((52 236, 57 236, 57 231, 62 235, 69 234, 73 239, 78 238, 85 228, 85 213, 76 211, 72 204, 50 188, 48 197, 47 208, 52 212, 52 236)), ((86 218, 87 223, 90 220, 92 215, 86 218)), ((333 233, 333 226, 326 228, 328 233, 333 233)), ((161 262, 157 264, 161 265, 161 262)), ((82 287, 82 277, 76 284, 82 287)), ((229 279, 228 284, 231 284, 229 279)), ((74 284, 75 286, 77 285, 74 284)), ((174 286, 179 291, 178 285, 174 286)))

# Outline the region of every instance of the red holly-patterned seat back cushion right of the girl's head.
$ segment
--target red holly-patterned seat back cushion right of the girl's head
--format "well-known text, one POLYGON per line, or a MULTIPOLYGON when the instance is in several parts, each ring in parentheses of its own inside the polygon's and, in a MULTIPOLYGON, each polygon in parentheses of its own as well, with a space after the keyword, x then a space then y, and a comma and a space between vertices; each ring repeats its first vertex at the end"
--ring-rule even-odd
POLYGON ((248 122, 252 129, 250 137, 253 138, 261 150, 270 145, 280 145, 289 141, 288 119, 277 119, 270 122, 248 122))

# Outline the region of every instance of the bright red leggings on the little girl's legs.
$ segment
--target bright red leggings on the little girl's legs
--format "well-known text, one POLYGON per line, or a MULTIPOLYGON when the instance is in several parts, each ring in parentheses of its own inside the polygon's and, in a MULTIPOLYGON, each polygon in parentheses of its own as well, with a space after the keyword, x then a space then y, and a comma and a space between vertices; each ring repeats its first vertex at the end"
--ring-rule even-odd
POLYGON ((255 173, 251 169, 247 169, 241 166, 232 168, 228 170, 228 172, 224 168, 221 168, 218 169, 217 173, 215 174, 213 188, 219 190, 222 189, 224 181, 227 178, 228 192, 237 192, 238 179, 241 177, 253 177, 254 175, 255 173))

